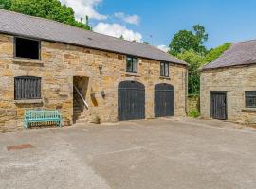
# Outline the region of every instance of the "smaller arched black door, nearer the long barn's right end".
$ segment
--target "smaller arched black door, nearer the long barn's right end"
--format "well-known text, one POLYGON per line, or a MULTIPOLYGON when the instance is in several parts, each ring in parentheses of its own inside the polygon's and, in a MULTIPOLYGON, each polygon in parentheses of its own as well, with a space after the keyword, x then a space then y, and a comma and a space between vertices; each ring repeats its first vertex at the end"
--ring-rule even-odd
POLYGON ((155 86, 155 117, 174 116, 174 87, 169 84, 155 86))

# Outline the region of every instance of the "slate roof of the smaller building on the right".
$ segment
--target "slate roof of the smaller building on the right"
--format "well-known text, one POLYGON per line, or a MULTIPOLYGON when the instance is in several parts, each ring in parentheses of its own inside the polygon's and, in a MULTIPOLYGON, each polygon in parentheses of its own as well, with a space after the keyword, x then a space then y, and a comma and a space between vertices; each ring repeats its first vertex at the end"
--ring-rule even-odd
POLYGON ((210 62, 202 71, 256 63, 256 40, 232 43, 217 60, 210 62))

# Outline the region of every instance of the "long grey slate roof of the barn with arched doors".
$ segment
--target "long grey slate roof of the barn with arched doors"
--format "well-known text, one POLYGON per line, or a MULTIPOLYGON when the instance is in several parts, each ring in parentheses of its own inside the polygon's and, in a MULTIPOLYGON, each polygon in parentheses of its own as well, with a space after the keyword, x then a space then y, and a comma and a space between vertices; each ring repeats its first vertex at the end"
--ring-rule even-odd
POLYGON ((4 9, 0 9, 0 33, 50 42, 69 43, 151 60, 186 64, 186 62, 178 60, 152 45, 132 43, 44 18, 27 16, 4 9))

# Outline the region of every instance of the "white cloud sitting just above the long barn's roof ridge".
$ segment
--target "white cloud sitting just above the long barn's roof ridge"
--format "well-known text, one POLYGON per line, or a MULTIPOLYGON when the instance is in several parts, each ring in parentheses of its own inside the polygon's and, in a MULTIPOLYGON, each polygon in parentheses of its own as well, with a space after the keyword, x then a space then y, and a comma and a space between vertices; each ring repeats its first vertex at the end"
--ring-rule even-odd
POLYGON ((130 30, 126 26, 120 26, 119 24, 99 23, 93 30, 117 38, 122 35, 125 40, 129 41, 142 42, 142 35, 140 33, 130 30))

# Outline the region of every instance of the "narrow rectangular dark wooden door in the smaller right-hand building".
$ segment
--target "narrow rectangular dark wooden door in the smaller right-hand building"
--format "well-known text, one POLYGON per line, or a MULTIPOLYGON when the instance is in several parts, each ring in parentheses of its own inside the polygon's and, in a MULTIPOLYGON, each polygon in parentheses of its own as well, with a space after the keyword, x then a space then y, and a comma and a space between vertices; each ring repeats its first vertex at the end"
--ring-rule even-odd
POLYGON ((227 93, 211 92, 210 113, 213 119, 226 120, 227 114, 227 93))

